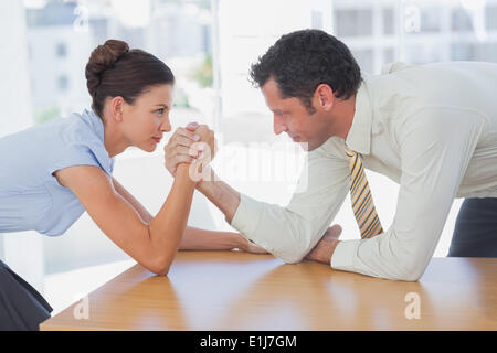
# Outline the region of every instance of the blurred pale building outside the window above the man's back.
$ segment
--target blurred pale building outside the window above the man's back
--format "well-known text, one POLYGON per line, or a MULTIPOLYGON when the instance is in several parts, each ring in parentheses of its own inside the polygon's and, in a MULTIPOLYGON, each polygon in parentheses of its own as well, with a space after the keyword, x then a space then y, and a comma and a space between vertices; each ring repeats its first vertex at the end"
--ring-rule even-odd
POLYGON ((497 1, 334 1, 334 32, 361 68, 384 63, 497 62, 497 1))

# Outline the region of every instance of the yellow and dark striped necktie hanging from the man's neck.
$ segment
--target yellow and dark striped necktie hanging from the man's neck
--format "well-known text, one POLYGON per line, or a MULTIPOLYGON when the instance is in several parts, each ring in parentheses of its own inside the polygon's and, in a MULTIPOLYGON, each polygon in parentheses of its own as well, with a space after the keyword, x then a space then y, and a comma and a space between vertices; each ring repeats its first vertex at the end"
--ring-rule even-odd
POLYGON ((383 233, 380 218, 369 190, 364 169, 362 168, 360 154, 346 147, 346 154, 349 158, 350 169, 350 199, 352 202, 353 215, 356 216, 362 238, 370 238, 383 233))

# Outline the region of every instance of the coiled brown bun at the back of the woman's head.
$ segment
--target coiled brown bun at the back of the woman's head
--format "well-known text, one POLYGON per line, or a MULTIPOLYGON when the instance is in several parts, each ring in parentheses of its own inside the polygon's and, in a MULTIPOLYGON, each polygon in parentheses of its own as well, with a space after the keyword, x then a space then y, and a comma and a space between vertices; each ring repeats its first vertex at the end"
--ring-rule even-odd
POLYGON ((94 49, 85 69, 86 86, 92 97, 95 96, 96 88, 101 84, 102 73, 113 67, 127 52, 129 52, 128 43, 118 40, 108 40, 104 45, 94 49))

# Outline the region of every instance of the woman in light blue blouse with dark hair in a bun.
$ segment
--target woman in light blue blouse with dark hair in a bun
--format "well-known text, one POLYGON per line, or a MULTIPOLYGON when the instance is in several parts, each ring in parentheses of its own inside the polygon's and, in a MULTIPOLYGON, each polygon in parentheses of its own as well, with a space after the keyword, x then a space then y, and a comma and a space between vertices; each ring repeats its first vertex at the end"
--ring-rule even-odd
MULTIPOLYGON (((0 233, 61 235, 86 210, 116 245, 162 276, 178 248, 257 252, 236 233, 187 227, 195 189, 190 164, 178 167, 155 217, 112 175, 115 156, 130 146, 151 152, 171 131, 175 77, 169 67, 109 40, 92 52, 85 74, 92 110, 0 139, 0 233)), ((205 126, 195 132, 178 129, 173 138, 186 146, 199 140, 211 150, 214 146, 205 126)), ((51 311, 34 288, 0 261, 0 329, 38 330, 51 311)))

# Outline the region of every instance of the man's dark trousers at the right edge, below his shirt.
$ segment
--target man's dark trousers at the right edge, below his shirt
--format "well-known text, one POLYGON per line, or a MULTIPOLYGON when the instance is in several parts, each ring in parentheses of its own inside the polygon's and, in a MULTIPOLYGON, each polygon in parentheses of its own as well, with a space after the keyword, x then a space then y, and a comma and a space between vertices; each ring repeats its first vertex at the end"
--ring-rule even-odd
POLYGON ((497 257, 497 197, 464 200, 447 256, 497 257))

